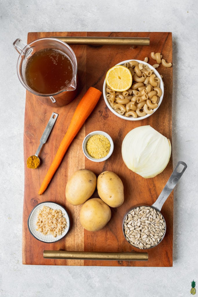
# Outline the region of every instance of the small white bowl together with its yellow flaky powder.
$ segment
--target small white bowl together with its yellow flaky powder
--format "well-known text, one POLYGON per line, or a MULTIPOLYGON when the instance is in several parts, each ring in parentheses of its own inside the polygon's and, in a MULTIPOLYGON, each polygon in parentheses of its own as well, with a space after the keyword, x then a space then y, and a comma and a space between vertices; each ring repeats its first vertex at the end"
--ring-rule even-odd
POLYGON ((103 162, 113 153, 113 140, 103 131, 93 131, 83 140, 83 153, 94 162, 103 162))

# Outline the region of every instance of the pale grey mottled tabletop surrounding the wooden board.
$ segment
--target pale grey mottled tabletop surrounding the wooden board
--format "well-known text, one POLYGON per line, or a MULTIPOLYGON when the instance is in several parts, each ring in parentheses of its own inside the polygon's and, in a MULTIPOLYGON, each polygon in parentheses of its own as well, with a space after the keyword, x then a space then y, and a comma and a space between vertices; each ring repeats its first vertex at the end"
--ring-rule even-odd
POLYGON ((198 282, 197 11, 196 0, 0 0, 1 297, 190 295, 191 281, 198 282), (173 163, 188 165, 174 191, 173 267, 22 265, 26 92, 17 77, 12 42, 26 42, 30 31, 172 32, 173 163))

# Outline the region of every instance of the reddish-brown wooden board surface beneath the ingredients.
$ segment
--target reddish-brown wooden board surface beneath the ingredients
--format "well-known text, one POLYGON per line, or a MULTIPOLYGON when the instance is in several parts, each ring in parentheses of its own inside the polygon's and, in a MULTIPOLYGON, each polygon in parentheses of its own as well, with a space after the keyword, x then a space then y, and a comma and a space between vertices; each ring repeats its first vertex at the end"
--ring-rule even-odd
MULTIPOLYGON (((148 250, 148 261, 101 261, 101 260, 54 260, 44 259, 44 250, 96 251, 96 252, 142 252, 133 248, 122 233, 122 220, 126 211, 137 204, 152 205, 170 177, 172 154, 165 170, 154 178, 144 179, 130 171, 121 158, 121 144, 125 135, 133 128, 151 125, 161 134, 172 140, 172 67, 159 66, 163 76, 164 98, 159 109, 149 118, 141 121, 119 119, 105 105, 103 95, 83 127, 70 145, 60 167, 47 190, 38 196, 40 184, 64 137, 74 110, 85 91, 93 86, 102 91, 106 72, 115 64, 129 59, 143 60, 148 56, 148 63, 155 64, 151 52, 160 52, 163 58, 172 62, 172 34, 170 32, 31 32, 27 43, 40 37, 50 36, 88 36, 88 37, 150 37, 149 46, 129 45, 70 45, 78 63, 80 94, 68 105, 50 107, 43 104, 27 91, 24 121, 24 204, 23 204, 23 264, 33 265, 74 265, 74 266, 172 266, 173 241, 173 192, 161 210, 166 223, 166 235, 158 246, 148 250), (40 137, 52 114, 59 114, 53 131, 42 149, 42 164, 37 169, 26 167, 26 159, 35 153, 40 137), (95 163, 85 159, 82 151, 84 137, 91 131, 103 130, 114 141, 114 152, 106 162, 95 163), (65 199, 65 187, 68 178, 80 168, 87 168, 97 175, 105 170, 118 174, 124 184, 125 201, 118 208, 112 208, 110 222, 100 231, 84 230, 79 222, 81 206, 72 206, 65 199), (27 219, 31 210, 40 202, 53 201, 66 208, 71 219, 69 233, 60 241, 46 244, 38 241, 28 231, 27 219)), ((93 197, 99 197, 97 192, 93 197)))

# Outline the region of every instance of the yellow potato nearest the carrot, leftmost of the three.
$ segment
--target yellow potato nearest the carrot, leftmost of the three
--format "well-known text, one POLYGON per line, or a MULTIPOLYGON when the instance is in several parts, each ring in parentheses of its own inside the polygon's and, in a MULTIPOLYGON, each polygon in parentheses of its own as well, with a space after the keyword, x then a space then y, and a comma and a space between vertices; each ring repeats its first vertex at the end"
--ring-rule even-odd
POLYGON ((65 196, 72 205, 80 205, 88 200, 96 188, 96 175, 91 170, 80 169, 69 178, 65 196))

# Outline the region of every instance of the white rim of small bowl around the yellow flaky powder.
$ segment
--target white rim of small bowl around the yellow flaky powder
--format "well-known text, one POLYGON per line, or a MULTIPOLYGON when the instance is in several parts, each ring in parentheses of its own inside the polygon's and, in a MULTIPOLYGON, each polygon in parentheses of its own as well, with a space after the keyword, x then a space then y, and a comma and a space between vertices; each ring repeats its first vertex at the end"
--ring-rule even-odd
POLYGON ((103 132, 103 131, 93 131, 93 132, 89 133, 89 134, 85 137, 85 139, 83 140, 83 153, 85 154, 85 156, 86 156, 89 160, 94 161, 94 162, 103 162, 103 161, 107 160, 107 159, 111 156, 111 154, 113 153, 113 148, 114 148, 114 145, 113 145, 113 140, 112 140, 112 138, 110 137, 109 134, 107 134, 106 132, 103 132), (104 135, 104 136, 110 141, 110 151, 109 151, 109 153, 107 154, 107 156, 105 156, 104 158, 100 158, 100 159, 93 158, 93 157, 91 157, 91 156, 88 154, 88 152, 87 152, 87 150, 86 150, 86 144, 87 144, 87 141, 88 141, 88 139, 89 139, 91 136, 93 136, 93 135, 104 135))

